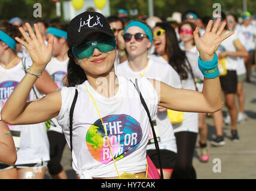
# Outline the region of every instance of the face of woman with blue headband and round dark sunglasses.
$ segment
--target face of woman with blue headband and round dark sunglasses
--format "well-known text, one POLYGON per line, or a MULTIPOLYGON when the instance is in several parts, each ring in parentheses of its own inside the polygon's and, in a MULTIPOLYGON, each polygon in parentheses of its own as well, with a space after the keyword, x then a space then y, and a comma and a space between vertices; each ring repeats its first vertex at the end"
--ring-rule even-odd
POLYGON ((126 33, 130 33, 132 35, 132 39, 130 39, 129 42, 125 42, 126 51, 129 54, 129 56, 138 57, 138 56, 141 56, 142 54, 147 54, 148 48, 151 47, 150 40, 144 37, 142 41, 138 42, 136 41, 134 36, 136 33, 142 33, 146 35, 144 30, 138 26, 132 26, 126 30, 126 33))

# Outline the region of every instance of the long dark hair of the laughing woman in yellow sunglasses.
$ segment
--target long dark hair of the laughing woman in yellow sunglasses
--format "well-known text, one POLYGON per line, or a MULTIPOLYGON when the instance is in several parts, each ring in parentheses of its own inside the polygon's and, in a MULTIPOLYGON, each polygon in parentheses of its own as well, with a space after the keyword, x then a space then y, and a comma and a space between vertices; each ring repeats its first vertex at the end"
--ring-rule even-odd
POLYGON ((165 52, 168 55, 168 62, 170 66, 173 67, 173 69, 176 70, 179 77, 182 79, 188 78, 188 72, 192 73, 192 68, 190 66, 190 63, 188 62, 188 66, 185 63, 187 59, 187 56, 185 54, 185 51, 182 51, 181 48, 179 48, 178 39, 175 33, 175 30, 173 27, 167 23, 157 23, 155 27, 160 27, 161 29, 165 30, 165 36, 166 36, 166 47, 165 52))

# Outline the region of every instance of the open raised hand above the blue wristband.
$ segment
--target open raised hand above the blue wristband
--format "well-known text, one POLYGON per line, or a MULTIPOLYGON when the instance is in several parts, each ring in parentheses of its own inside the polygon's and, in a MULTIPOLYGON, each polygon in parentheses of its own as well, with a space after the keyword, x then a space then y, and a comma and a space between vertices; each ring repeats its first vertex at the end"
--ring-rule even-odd
POLYGON ((219 27, 221 19, 217 19, 214 26, 212 27, 213 20, 210 20, 206 26, 206 31, 202 37, 199 37, 199 28, 196 27, 194 30, 194 41, 196 48, 199 51, 200 58, 203 61, 210 61, 214 58, 214 53, 220 46, 221 42, 229 36, 233 35, 234 32, 230 32, 226 35, 222 35, 225 27, 225 22, 219 27))

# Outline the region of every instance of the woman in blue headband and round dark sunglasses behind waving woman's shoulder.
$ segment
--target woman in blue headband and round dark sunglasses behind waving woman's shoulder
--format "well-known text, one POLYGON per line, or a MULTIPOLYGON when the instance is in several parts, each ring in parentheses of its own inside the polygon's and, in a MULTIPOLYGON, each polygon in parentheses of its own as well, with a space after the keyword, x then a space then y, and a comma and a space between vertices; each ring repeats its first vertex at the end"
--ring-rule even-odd
MULTIPOLYGON (((130 22, 123 37, 126 42, 126 52, 129 60, 117 65, 117 74, 127 78, 142 78, 144 76, 145 78, 157 79, 175 88, 181 88, 179 75, 169 64, 148 58, 148 49, 153 45, 153 33, 144 21, 130 22), (139 34, 141 36, 145 35, 144 38, 139 39, 139 34)), ((165 179, 170 179, 175 164, 177 147, 167 110, 159 107, 153 122, 155 123, 155 131, 158 132, 157 138, 159 139, 163 175, 165 179)), ((160 170, 152 132, 147 145, 147 154, 156 168, 160 170)))

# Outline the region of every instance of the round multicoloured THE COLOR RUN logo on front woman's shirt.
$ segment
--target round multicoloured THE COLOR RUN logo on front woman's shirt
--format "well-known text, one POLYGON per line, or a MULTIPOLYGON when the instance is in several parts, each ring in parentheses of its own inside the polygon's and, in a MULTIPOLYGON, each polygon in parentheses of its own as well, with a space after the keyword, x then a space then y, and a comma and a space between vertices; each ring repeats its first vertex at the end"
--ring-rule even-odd
MULTIPOLYGON (((142 130, 139 122, 129 115, 109 115, 102 118, 115 159, 121 159, 139 146, 142 130)), ((93 158, 103 164, 112 161, 111 151, 102 122, 98 119, 86 135, 87 147, 93 158)))

